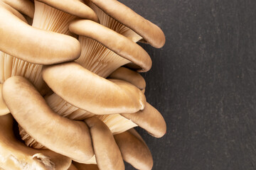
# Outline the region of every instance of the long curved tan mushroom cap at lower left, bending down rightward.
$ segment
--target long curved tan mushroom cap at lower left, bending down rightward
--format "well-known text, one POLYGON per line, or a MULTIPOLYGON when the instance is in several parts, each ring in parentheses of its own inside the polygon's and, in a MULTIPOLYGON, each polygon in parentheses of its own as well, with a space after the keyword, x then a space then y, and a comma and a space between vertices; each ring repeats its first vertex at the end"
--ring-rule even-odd
POLYGON ((54 113, 25 78, 7 79, 2 92, 11 114, 36 141, 77 162, 93 156, 87 125, 54 113))

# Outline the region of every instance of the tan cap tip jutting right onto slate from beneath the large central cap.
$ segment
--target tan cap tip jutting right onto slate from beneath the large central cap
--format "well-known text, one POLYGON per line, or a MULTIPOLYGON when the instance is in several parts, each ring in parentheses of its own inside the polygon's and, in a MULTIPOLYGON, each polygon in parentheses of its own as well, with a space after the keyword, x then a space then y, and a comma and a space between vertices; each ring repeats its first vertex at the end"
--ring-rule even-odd
POLYGON ((166 134, 166 122, 153 106, 149 103, 146 103, 143 111, 138 111, 137 113, 122 113, 124 118, 132 120, 132 122, 139 125, 139 127, 143 128, 150 135, 154 137, 162 137, 166 134))

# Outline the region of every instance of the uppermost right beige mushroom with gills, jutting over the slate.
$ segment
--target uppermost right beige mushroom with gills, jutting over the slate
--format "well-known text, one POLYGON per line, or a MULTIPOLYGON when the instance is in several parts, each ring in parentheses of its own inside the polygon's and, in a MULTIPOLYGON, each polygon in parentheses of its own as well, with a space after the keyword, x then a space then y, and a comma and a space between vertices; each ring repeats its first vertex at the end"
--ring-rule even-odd
MULTIPOLYGON (((124 4, 116 0, 86 0, 87 4, 95 10, 97 16, 99 16, 100 22, 105 26, 114 26, 115 28, 131 28, 135 33, 140 35, 143 39, 142 42, 147 42, 154 47, 162 47, 165 43, 165 37, 163 31, 154 23, 146 20, 142 16, 132 11, 124 4), (92 4, 93 3, 93 4, 92 4), (94 5, 95 4, 95 5, 94 5), (100 11, 104 11, 102 13, 100 11), (124 12, 125 11, 125 12, 124 12), (111 18, 118 21, 114 22, 111 18), (103 21, 104 20, 104 21, 103 21), (111 22, 105 22, 111 20, 111 22), (124 25, 124 26, 122 26, 124 25)), ((108 27, 107 26, 107 27, 108 27)), ((134 39, 135 41, 140 40, 139 36, 134 37, 134 33, 127 30, 119 29, 122 33, 134 39)))

